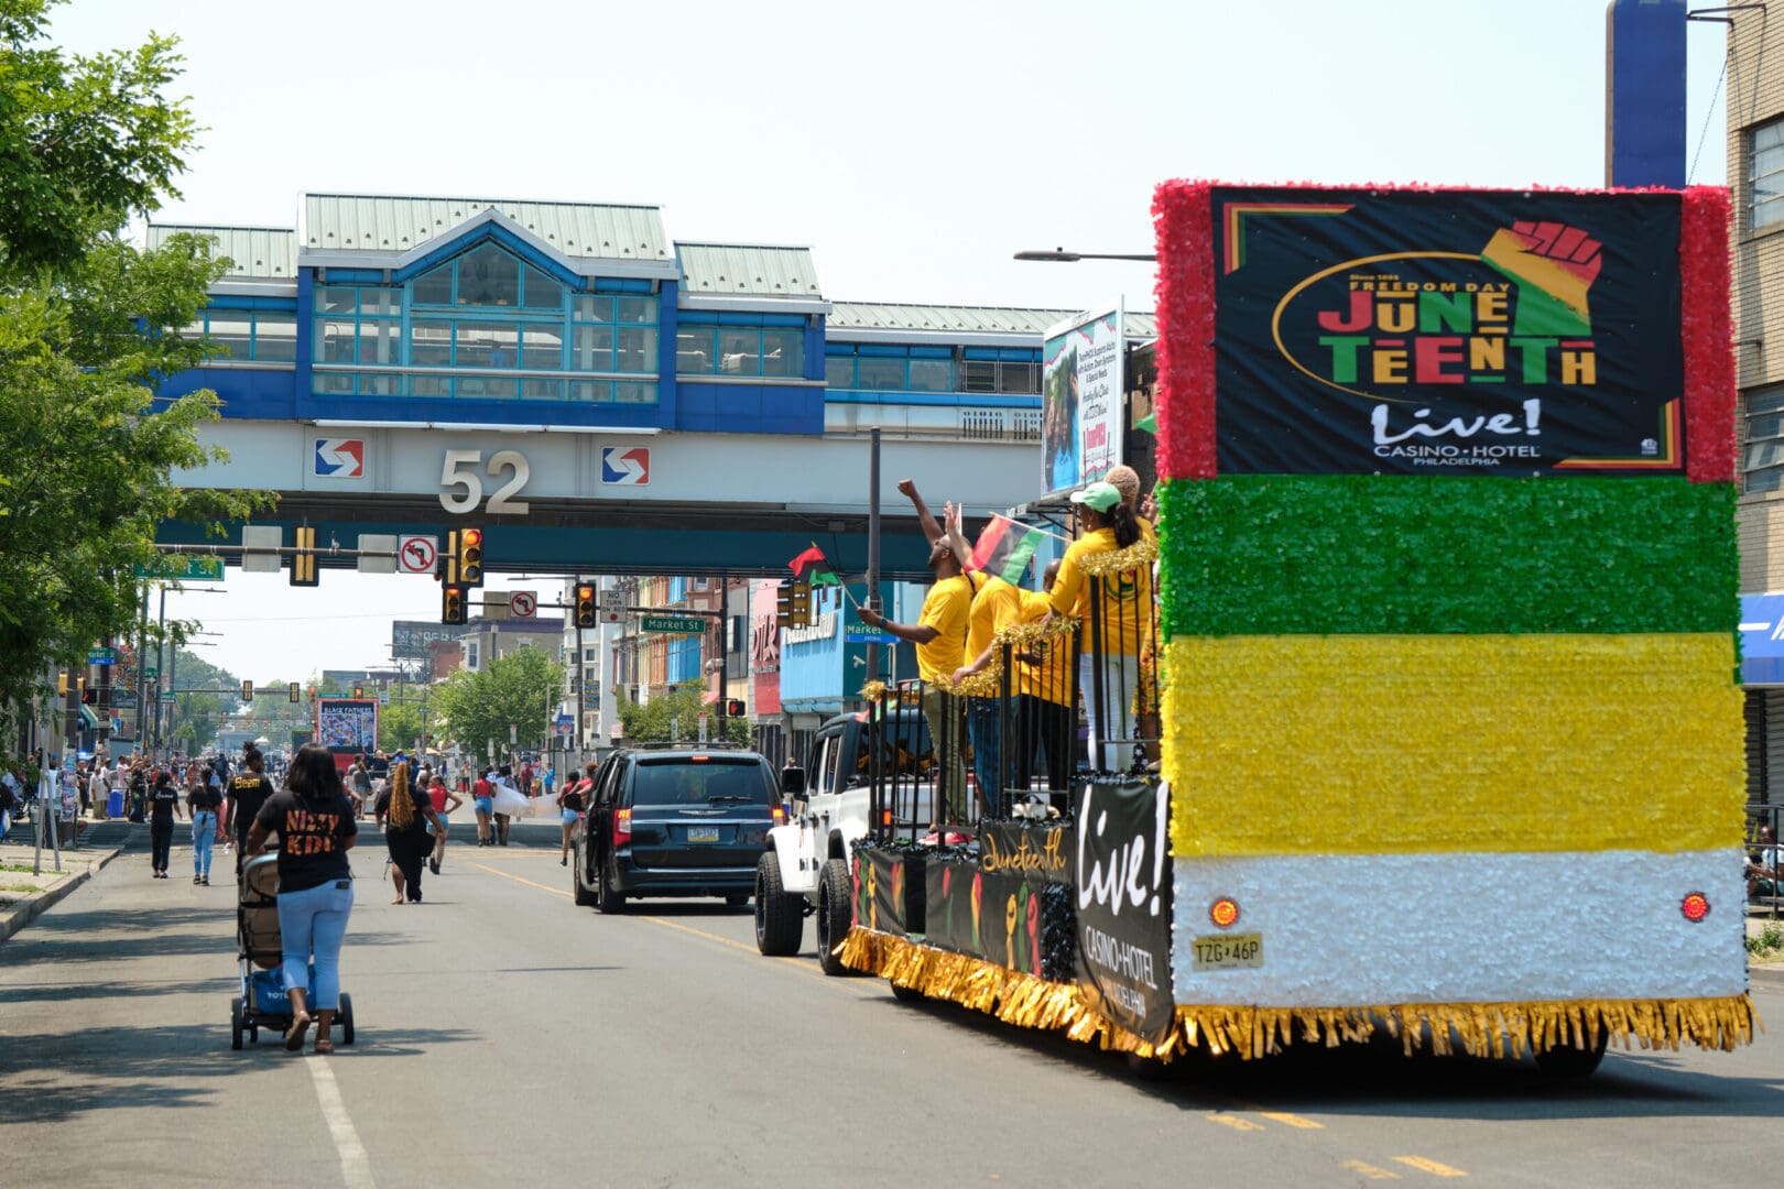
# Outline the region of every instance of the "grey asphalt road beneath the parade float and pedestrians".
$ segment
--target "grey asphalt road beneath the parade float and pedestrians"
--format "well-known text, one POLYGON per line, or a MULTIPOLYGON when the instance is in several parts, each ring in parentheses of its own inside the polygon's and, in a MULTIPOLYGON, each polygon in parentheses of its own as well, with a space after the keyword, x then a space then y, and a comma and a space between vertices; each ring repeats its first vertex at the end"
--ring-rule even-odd
MULTIPOLYGON (((524 832, 524 838, 523 838, 524 832)), ((747 909, 571 904, 555 827, 391 906, 355 852, 359 1043, 228 1046, 234 886, 146 838, 0 945, 5 1185, 1734 1185, 1784 1152, 1784 1039, 1529 1061, 1313 1050, 1147 1082, 812 957, 747 909), (189 870, 189 868, 186 868, 189 870)), ((469 838, 469 829, 455 831, 469 838)), ((1759 988, 1763 1016, 1784 995, 1759 988)))

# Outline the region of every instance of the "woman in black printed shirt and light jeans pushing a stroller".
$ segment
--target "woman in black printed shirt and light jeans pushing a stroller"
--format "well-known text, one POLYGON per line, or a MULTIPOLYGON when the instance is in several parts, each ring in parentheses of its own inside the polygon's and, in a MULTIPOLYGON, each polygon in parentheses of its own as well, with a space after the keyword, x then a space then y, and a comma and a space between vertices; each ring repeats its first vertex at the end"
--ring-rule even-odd
POLYGON ((334 1052, 328 1029, 341 1007, 341 941, 353 913, 353 868, 346 852, 359 841, 359 824, 334 756, 321 743, 298 749, 285 788, 266 799, 248 827, 248 850, 259 854, 275 831, 280 834, 278 934, 291 998, 285 1048, 303 1048, 310 1029, 305 984, 314 964, 316 1054, 325 1055, 334 1052))

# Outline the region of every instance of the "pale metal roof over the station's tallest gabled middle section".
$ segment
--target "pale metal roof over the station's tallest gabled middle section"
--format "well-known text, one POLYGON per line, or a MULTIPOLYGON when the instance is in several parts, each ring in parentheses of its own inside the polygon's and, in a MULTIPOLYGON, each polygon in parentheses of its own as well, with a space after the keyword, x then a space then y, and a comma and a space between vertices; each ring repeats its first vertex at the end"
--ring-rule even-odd
POLYGON ((674 255, 657 207, 378 194, 305 194, 303 248, 401 253, 491 207, 566 257, 671 260, 674 255))

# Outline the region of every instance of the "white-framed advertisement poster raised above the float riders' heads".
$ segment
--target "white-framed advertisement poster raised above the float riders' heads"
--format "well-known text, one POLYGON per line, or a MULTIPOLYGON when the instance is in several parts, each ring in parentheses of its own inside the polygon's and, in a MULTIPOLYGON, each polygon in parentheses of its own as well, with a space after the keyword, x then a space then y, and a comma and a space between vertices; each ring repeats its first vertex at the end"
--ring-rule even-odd
POLYGON ((1127 317, 1117 305, 1047 332, 1040 374, 1042 494, 1101 480, 1122 462, 1127 317))

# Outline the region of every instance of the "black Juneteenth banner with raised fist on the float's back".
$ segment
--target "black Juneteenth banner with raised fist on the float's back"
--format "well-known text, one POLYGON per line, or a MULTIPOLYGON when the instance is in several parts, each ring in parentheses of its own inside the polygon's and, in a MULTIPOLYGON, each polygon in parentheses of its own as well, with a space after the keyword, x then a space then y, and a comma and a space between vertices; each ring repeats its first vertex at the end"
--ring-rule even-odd
POLYGON ((1220 474, 1684 474, 1679 194, 1213 187, 1220 474))

